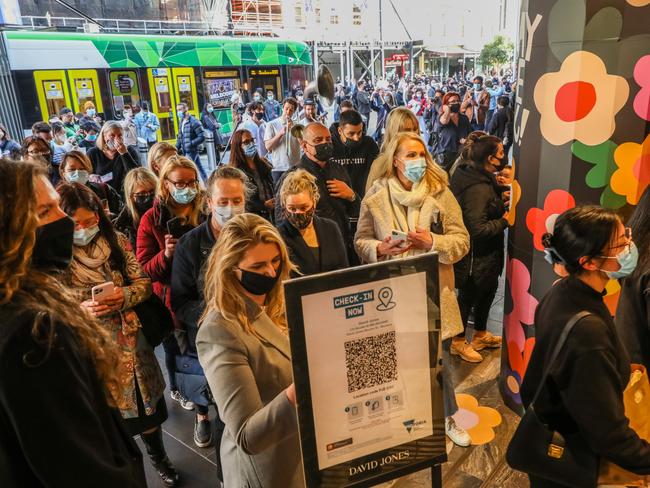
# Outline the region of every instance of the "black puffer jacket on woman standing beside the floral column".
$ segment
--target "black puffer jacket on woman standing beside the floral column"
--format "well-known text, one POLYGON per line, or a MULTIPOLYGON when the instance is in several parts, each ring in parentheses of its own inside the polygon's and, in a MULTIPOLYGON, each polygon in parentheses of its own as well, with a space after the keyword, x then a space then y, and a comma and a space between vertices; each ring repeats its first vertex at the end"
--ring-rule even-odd
POLYGON ((493 174, 463 163, 451 177, 451 191, 463 211, 470 237, 469 253, 454 266, 456 287, 462 288, 473 276, 480 288, 481 283, 489 283, 503 269, 503 237, 508 226, 503 218, 503 189, 493 174))

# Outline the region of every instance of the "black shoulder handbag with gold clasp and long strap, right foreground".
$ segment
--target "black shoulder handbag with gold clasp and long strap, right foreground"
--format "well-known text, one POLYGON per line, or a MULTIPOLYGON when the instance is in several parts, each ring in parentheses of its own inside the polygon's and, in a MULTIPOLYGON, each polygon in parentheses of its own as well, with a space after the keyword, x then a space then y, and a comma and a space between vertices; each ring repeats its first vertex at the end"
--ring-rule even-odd
POLYGON ((589 448, 580 433, 563 436, 542 422, 535 412, 535 401, 544 388, 551 366, 560 354, 571 329, 579 320, 589 315, 589 312, 579 312, 567 322, 550 361, 546 364, 535 396, 506 451, 506 461, 511 468, 576 488, 597 486, 598 456, 589 448))

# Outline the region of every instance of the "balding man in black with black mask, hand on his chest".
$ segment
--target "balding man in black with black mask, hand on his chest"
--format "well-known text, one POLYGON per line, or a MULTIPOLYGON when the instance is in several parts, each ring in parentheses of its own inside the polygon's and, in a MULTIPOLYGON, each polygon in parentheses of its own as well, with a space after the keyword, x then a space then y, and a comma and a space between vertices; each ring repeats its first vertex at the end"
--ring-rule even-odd
MULTIPOLYGON (((350 248, 352 243, 350 217, 359 214, 360 199, 351 187, 352 183, 345 168, 332 159, 334 147, 329 130, 323 124, 309 124, 303 132, 300 147, 304 154, 300 162, 289 171, 302 168, 314 175, 321 195, 316 206, 316 215, 336 222, 343 234, 346 247, 350 248)), ((276 224, 284 220, 284 210, 279 195, 283 181, 284 176, 276 186, 276 224)))

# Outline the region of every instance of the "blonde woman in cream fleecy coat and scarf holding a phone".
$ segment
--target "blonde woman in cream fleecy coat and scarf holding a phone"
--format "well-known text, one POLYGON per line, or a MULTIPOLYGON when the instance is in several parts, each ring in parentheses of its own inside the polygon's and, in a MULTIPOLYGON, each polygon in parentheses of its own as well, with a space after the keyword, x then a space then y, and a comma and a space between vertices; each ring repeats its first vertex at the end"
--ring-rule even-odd
MULTIPOLYGON (((443 351, 463 331, 456 301, 453 265, 469 250, 469 235, 458 205, 447 187, 447 174, 433 162, 424 140, 401 132, 375 164, 382 169, 361 202, 355 248, 363 262, 436 252, 440 273, 440 315, 443 351)), ((446 366, 446 360, 445 366, 446 366)), ((456 425, 458 410, 449 374, 443 369, 446 432, 457 445, 471 439, 456 425)))

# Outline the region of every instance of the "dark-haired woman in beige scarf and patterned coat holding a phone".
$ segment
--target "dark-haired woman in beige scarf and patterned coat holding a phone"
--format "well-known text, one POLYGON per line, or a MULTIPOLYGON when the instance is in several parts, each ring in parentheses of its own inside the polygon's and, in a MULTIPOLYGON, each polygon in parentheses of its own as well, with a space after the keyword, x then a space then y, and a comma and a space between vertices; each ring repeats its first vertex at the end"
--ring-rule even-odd
POLYGON ((131 435, 140 434, 163 482, 176 486, 178 473, 167 457, 160 429, 167 419, 165 380, 133 310, 151 295, 151 280, 128 239, 113 230, 90 188, 62 183, 57 191, 62 210, 75 225, 72 263, 63 281, 119 347, 118 387, 111 396, 131 435))

